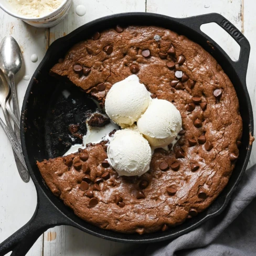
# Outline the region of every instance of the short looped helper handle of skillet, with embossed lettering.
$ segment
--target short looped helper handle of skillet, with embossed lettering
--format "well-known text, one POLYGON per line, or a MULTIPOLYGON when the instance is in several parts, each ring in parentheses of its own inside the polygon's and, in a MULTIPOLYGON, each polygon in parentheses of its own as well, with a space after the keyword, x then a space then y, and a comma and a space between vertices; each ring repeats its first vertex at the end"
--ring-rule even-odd
POLYGON ((179 20, 179 23, 182 23, 194 30, 197 31, 200 35, 208 38, 212 45, 217 45, 214 40, 208 37, 204 32, 201 31, 200 26, 202 24, 207 24, 215 22, 221 28, 227 31, 227 33, 239 44, 241 47, 239 59, 237 61, 232 61, 230 58, 230 62, 234 69, 236 69, 239 77, 242 81, 246 82, 246 73, 250 55, 250 43, 246 37, 239 31, 236 26, 234 26, 228 19, 223 17, 218 13, 210 13, 204 14, 194 17, 182 18, 179 20))

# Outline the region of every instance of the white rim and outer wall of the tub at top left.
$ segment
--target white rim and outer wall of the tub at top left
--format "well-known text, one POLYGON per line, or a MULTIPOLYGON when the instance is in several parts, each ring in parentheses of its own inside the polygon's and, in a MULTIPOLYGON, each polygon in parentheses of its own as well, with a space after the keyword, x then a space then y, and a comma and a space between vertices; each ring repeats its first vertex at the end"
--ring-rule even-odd
POLYGON ((71 0, 63 0, 61 5, 54 10, 54 12, 49 13, 41 17, 26 17, 18 15, 13 7, 10 5, 8 0, 0 0, 0 8, 2 8, 6 13, 12 15, 15 18, 21 19, 27 24, 34 27, 53 27, 61 22, 61 20, 68 14, 68 10, 71 5, 71 0))

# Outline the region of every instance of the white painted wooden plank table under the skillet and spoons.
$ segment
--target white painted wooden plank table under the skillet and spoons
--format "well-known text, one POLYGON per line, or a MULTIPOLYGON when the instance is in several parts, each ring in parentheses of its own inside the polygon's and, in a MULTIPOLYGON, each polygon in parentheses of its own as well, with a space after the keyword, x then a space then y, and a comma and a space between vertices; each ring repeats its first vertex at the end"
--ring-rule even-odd
MULTIPOLYGON (((0 0, 2 1, 2 0, 0 0)), ((206 13, 220 13, 236 25, 251 43, 251 55, 247 73, 247 87, 254 109, 256 84, 256 22, 254 0, 73 0, 68 16, 62 22, 50 29, 37 29, 17 20, 0 9, 0 40, 6 35, 12 35, 20 45, 24 64, 16 77, 20 108, 28 86, 25 75, 32 76, 48 46, 57 38, 90 20, 124 12, 151 12, 173 17, 188 17, 206 13), (86 6, 86 15, 76 15, 77 5, 86 6), (36 54, 38 61, 33 63, 30 56, 36 54)), ((204 27, 204 31, 212 36, 232 59, 237 59, 239 47, 228 34, 215 31, 212 27, 204 27)), ((220 29, 221 30, 221 29, 220 29)), ((255 111, 254 111, 255 114, 255 111)), ((0 114, 1 115, 1 114, 0 114)), ((255 145, 249 166, 256 163, 255 145)), ((36 208, 36 190, 30 180, 25 184, 20 179, 14 162, 13 152, 4 132, 0 130, 0 243, 10 234, 22 227, 33 215, 36 208)), ((119 255, 131 249, 131 244, 110 242, 90 236, 72 227, 56 227, 42 235, 27 255, 31 256, 94 256, 119 255)), ((9 254, 8 254, 9 255, 9 254)))

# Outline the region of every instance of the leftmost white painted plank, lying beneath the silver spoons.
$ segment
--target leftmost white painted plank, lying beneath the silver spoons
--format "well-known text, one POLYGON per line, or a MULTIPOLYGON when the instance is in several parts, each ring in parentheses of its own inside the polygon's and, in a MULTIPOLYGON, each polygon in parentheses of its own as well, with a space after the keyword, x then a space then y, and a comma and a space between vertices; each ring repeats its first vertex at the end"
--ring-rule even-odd
MULTIPOLYGON (((21 20, 13 18, 0 9, 0 40, 7 35, 12 35, 18 42, 23 54, 22 70, 17 74, 15 81, 19 106, 21 108, 24 94, 28 86, 23 77, 33 75, 39 61, 45 55, 48 46, 48 29, 36 29, 21 20), (30 56, 37 54, 38 61, 31 62, 30 56)), ((0 111, 2 112, 2 111, 0 111)), ((2 117, 1 113, 1 117, 2 117)), ((0 243, 12 233, 22 227, 34 214, 37 202, 36 189, 30 180, 24 183, 19 177, 14 161, 12 148, 0 129, 0 243)), ((42 254, 42 236, 30 249, 27 255, 37 256, 42 254)))

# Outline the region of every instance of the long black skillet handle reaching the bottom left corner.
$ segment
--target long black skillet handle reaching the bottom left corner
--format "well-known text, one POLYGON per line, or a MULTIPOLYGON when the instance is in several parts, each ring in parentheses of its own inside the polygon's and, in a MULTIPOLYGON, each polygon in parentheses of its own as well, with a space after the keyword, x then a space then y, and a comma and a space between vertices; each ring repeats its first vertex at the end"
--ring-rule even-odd
MULTIPOLYGON (((39 188, 39 190, 41 190, 39 188)), ((25 256, 36 240, 47 229, 70 225, 69 219, 49 201, 44 192, 37 191, 37 207, 33 217, 12 236, 0 243, 0 256, 12 251, 11 256, 25 256)))

